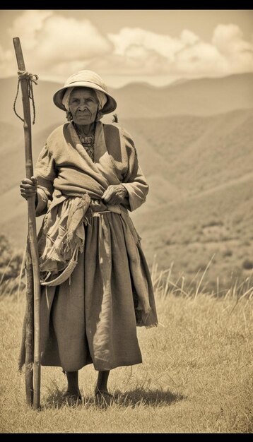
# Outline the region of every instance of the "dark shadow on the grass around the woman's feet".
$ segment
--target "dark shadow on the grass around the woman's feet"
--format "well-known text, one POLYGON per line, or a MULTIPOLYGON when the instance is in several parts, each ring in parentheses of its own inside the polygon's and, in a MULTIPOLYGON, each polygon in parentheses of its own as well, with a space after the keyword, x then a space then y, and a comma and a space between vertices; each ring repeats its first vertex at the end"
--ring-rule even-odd
MULTIPOLYGON (((172 393, 170 390, 160 390, 160 389, 148 389, 136 388, 135 390, 129 390, 122 393, 119 390, 115 390, 112 396, 112 401, 110 405, 119 405, 121 407, 131 407, 135 408, 140 405, 153 405, 155 407, 164 407, 166 405, 172 405, 175 402, 184 400, 187 397, 181 395, 180 393, 172 393)), ((61 390, 56 390, 52 392, 45 402, 46 408, 60 408, 64 406, 71 407, 96 407, 98 403, 95 400, 94 395, 82 395, 82 400, 77 402, 71 402, 66 404, 64 400, 63 392, 61 390)))

